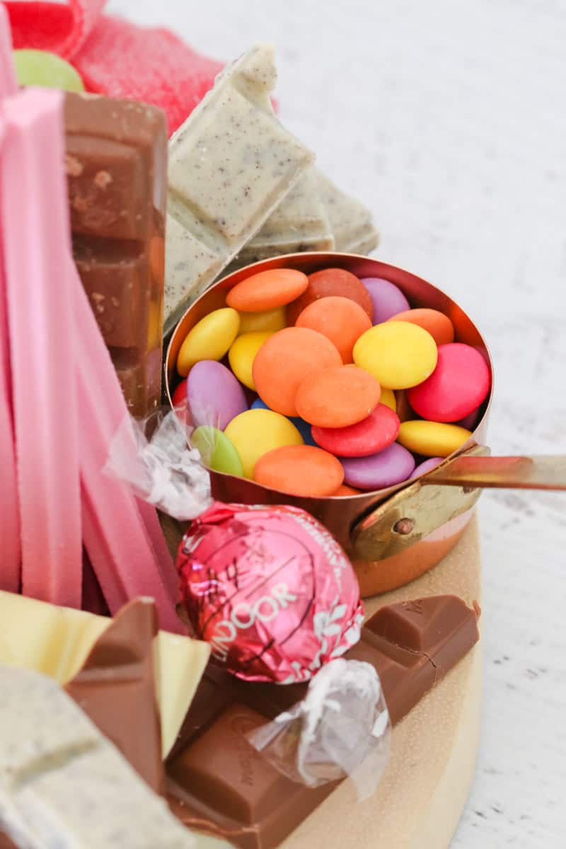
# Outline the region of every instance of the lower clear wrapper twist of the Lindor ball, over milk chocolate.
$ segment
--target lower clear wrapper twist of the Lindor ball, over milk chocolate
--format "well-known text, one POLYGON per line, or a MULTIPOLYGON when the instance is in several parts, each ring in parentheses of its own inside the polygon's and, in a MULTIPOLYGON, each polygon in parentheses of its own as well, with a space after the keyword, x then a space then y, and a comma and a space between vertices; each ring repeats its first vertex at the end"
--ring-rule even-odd
POLYGON ((287 778, 318 787, 350 776, 363 801, 389 760, 390 733, 378 673, 341 658, 322 667, 303 701, 247 736, 287 778))

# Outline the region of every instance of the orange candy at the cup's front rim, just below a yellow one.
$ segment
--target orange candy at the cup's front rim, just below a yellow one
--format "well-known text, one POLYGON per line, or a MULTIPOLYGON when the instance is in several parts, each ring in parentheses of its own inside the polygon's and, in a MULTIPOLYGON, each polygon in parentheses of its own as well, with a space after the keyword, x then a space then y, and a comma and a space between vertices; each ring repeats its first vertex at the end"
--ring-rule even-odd
POLYGON ((274 448, 255 464, 254 480, 287 495, 324 498, 333 495, 344 480, 339 460, 311 445, 274 448))

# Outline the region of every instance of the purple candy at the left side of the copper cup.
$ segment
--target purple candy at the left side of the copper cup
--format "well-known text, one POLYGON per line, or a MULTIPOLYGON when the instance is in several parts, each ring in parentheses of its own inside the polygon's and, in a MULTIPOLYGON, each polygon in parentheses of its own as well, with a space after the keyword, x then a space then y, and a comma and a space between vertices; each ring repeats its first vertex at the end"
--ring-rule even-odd
POLYGON ((216 360, 201 360, 188 373, 188 407, 193 424, 211 424, 224 430, 248 409, 244 389, 232 372, 216 360))

